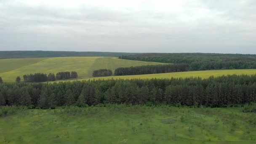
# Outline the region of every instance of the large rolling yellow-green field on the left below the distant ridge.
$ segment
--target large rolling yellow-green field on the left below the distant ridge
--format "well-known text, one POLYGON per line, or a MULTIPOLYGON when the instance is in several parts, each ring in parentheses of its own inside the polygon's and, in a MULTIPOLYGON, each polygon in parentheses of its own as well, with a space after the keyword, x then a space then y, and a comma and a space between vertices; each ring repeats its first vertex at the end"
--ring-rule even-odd
POLYGON ((131 67, 157 62, 132 61, 116 57, 58 57, 58 58, 29 58, 29 59, 0 59, 0 77, 5 82, 13 82, 17 76, 40 73, 56 73, 61 71, 76 71, 79 78, 91 77, 93 70, 131 67))

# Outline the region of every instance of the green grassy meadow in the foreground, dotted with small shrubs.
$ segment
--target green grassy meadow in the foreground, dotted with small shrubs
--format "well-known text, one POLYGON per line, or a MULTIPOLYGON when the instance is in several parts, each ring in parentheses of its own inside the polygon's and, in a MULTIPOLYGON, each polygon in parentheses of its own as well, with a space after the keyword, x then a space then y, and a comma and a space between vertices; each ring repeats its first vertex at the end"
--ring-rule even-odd
POLYGON ((255 144, 256 115, 242 110, 124 105, 27 109, 0 117, 0 143, 255 144))

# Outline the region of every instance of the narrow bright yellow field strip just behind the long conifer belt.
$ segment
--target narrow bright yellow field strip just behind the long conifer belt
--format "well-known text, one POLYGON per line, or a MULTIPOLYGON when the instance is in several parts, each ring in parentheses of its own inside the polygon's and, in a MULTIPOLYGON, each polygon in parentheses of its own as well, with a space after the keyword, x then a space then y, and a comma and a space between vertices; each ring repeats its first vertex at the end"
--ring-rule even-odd
POLYGON ((108 79, 152 79, 152 78, 186 78, 186 77, 202 77, 208 78, 210 76, 218 77, 222 75, 255 75, 256 69, 224 69, 224 70, 205 70, 205 71, 190 71, 190 72, 170 72, 161 74, 149 75, 124 75, 124 76, 109 76, 109 77, 93 77, 81 80, 108 80, 108 79))

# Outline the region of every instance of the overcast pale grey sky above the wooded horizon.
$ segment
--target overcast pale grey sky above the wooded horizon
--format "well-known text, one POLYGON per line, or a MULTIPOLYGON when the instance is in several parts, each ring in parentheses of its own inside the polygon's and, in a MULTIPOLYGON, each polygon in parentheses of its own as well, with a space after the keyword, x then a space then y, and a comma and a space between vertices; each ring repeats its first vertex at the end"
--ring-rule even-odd
POLYGON ((256 54, 256 0, 0 0, 0 51, 256 54))

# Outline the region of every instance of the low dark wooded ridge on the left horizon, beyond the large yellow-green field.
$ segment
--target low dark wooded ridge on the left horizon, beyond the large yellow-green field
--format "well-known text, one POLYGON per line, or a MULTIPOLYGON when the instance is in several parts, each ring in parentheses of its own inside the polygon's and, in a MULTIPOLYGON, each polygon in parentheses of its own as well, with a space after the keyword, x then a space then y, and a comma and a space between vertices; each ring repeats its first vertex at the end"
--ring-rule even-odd
POLYGON ((93 51, 0 51, 0 59, 16 58, 46 58, 46 57, 69 57, 69 56, 122 56, 139 53, 115 53, 93 51))

